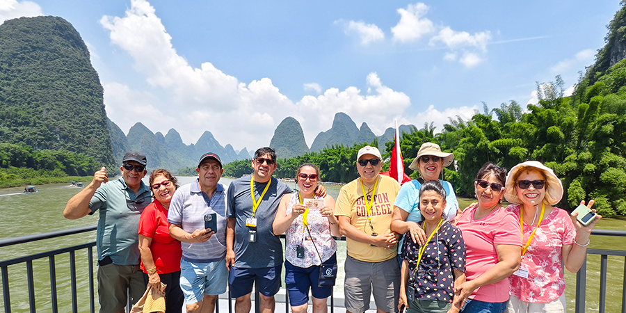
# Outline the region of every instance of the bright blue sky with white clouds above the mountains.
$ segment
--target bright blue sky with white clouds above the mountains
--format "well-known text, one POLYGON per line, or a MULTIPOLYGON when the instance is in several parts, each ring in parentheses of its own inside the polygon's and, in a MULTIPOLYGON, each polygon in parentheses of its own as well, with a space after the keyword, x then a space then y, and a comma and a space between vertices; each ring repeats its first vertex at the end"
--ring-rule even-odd
MULTIPOLYGON (((307 144, 342 111, 380 135, 536 102, 595 60, 619 1, 0 0, 0 22, 66 19, 87 43, 109 118, 128 132, 206 130, 269 145, 287 116, 307 144)), ((1 49, 1 47, 0 47, 1 49)), ((570 88, 571 90, 571 88, 570 88)))

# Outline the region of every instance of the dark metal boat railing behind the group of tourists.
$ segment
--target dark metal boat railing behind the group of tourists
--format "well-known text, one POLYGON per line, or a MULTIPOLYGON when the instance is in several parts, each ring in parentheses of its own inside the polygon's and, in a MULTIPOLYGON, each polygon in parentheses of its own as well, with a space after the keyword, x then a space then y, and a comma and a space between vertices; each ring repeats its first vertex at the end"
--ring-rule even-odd
MULTIPOLYGON (((67 236, 70 234, 79 234, 82 232, 91 232, 97 229, 97 225, 86 226, 74 228, 72 230, 61 230, 57 232, 47 232, 44 234, 34 234, 29 236, 22 236, 17 238, 10 239, 0 239, 0 247, 5 246, 13 246, 19 243, 26 243, 31 241, 38 241, 43 239, 51 239, 60 236, 67 236)), ((626 237, 626 231, 623 230, 593 230, 591 232, 592 235, 596 236, 618 236, 618 237, 626 237)), ((283 236, 284 237, 284 236, 283 236)), ((72 246, 67 248, 61 248, 57 250, 51 250, 48 252, 37 253, 35 255, 29 255, 26 257, 17 257, 15 259, 3 260, 0 261, 0 269, 1 273, 1 281, 2 281, 2 296, 4 302, 4 312, 11 312, 11 304, 10 304, 10 285, 9 285, 9 275, 8 275, 8 266, 14 264, 26 263, 26 280, 29 289, 29 306, 30 312, 35 312, 35 286, 34 286, 34 275, 33 275, 33 260, 35 259, 43 259, 48 258, 49 263, 49 275, 50 275, 50 290, 51 290, 51 305, 52 312, 58 313, 58 298, 57 298, 57 287, 56 287, 56 265, 54 262, 54 257, 56 255, 61 255, 65 253, 69 253, 70 255, 70 288, 72 294, 72 312, 78 312, 78 299, 77 299, 77 273, 76 273, 76 252, 78 250, 87 250, 88 255, 88 275, 89 275, 89 305, 90 312, 95 312, 95 288, 93 284, 94 280, 94 262, 93 262, 93 246, 95 246, 95 242, 83 243, 78 246, 72 246)), ((602 250, 602 249, 587 249, 587 255, 600 255, 600 304, 598 310, 600 313, 604 313, 606 310, 606 295, 607 295, 607 268, 608 268, 608 257, 611 256, 619 256, 625 258, 624 263, 624 281, 622 284, 622 309, 621 312, 626 313, 626 250, 602 250)), ((576 304, 575 304, 575 312, 583 313, 585 312, 585 300, 586 300, 586 269, 587 269, 587 260, 581 266, 580 270, 576 276, 576 304)), ((258 289, 255 288, 255 312, 259 312, 259 292, 258 289)), ((232 298, 230 297, 230 290, 228 291, 228 312, 232 313, 232 298)), ((289 310, 289 296, 285 293, 285 312, 289 310)), ((330 296, 330 312, 334 312, 333 308, 335 307, 335 299, 330 296)), ((216 303, 216 312, 219 312, 218 303, 216 303)))

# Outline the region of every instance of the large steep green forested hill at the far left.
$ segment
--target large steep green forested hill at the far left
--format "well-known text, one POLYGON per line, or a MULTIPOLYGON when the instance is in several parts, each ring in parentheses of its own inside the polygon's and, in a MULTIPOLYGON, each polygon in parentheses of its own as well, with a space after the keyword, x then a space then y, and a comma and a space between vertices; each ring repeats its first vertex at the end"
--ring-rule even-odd
POLYGON ((61 17, 0 25, 0 142, 114 164, 103 90, 89 51, 61 17))

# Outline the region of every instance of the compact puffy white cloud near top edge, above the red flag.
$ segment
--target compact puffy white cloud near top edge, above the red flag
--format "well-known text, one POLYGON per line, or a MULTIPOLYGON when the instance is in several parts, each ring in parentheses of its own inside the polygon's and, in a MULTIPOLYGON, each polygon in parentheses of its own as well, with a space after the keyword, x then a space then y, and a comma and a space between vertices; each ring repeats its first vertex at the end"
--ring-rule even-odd
POLYGON ((399 8, 400 21, 392 27, 394 40, 411 42, 433 32, 435 30, 433 22, 422 18, 426 12, 428 12, 428 6, 424 3, 409 4, 406 8, 399 8))

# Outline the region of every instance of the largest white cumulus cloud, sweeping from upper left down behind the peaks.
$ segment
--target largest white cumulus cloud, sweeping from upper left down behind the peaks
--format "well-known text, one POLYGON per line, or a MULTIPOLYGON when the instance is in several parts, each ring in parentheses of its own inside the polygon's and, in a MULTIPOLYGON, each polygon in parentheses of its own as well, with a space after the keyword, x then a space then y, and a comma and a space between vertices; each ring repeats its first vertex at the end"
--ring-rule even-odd
POLYGON ((145 92, 124 83, 104 83, 106 111, 124 131, 138 121, 163 134, 173 127, 189 144, 208 130, 222 145, 255 150, 269 144, 275 127, 287 116, 300 121, 310 145, 332 126, 337 112, 350 115, 358 125, 367 122, 375 134, 382 134, 410 106, 406 94, 385 86, 376 73, 367 75, 366 93, 354 86, 322 93, 321 86, 309 83, 305 88, 319 90, 319 95, 294 103, 267 77, 243 83, 209 62, 193 67, 177 54, 145 0, 131 1, 124 17, 104 16, 100 23, 152 86, 145 92))

